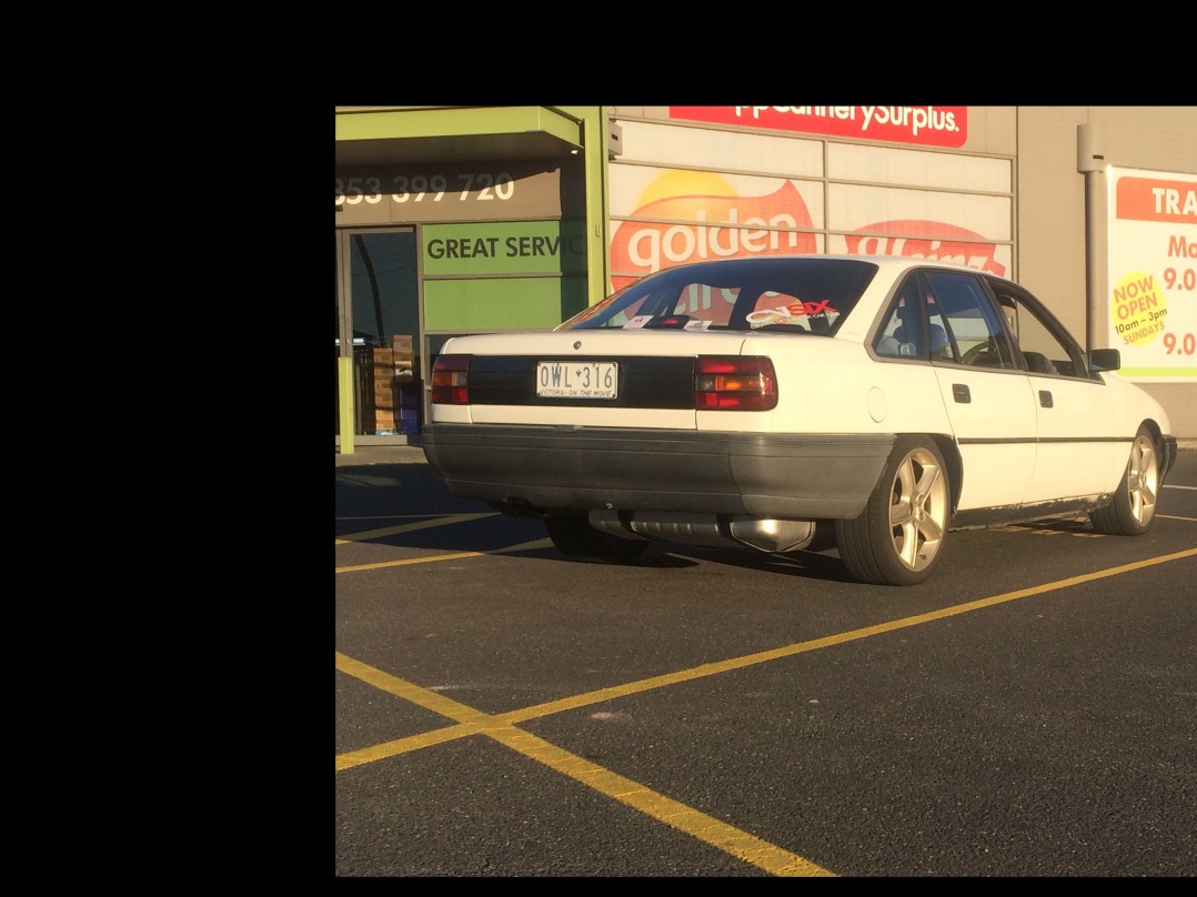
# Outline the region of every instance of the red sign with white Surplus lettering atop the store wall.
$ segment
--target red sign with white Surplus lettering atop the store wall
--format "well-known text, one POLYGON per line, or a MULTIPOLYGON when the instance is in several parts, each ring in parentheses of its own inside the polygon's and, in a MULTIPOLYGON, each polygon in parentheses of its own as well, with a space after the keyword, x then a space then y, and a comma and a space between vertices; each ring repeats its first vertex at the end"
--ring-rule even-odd
POLYGON ((669 117, 919 146, 968 138, 968 106, 669 106, 669 117))

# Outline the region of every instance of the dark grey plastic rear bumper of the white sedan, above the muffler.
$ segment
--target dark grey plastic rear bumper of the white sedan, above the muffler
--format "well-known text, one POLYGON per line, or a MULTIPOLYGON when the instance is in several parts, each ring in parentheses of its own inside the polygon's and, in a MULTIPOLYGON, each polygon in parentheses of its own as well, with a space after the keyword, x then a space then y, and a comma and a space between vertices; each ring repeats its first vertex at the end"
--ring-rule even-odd
POLYGON ((864 509, 892 434, 765 434, 430 423, 454 495, 529 513, 683 511, 794 519, 864 509))

